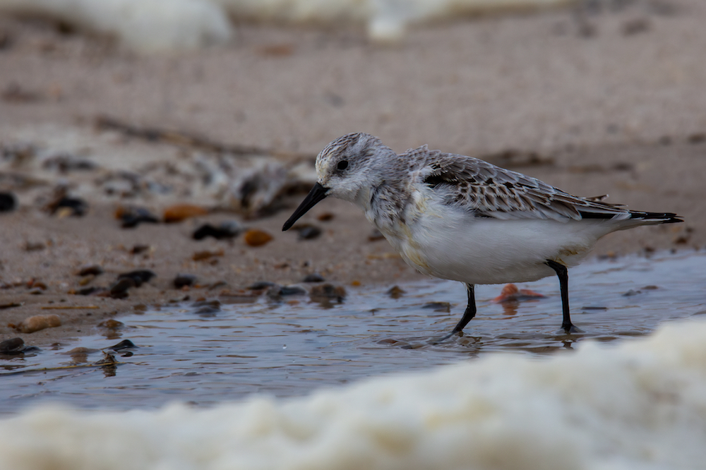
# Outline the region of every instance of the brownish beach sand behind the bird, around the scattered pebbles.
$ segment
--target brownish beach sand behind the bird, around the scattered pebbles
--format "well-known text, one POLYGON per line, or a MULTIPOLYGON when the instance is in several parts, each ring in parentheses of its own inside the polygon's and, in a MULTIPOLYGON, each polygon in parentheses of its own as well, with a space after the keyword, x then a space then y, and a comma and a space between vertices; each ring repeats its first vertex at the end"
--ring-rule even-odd
MULTIPOLYGON (((367 131, 399 152, 428 143, 486 157, 571 193, 609 193, 609 202, 686 217, 685 224, 606 236, 597 255, 693 250, 706 243, 705 20, 699 1, 680 1, 669 14, 635 7, 591 16, 587 34, 572 13, 557 11, 419 27, 396 47, 369 44, 357 30, 242 25, 229 47, 138 56, 47 23, 0 18, 0 35, 7 38, 0 50, 0 143, 32 143, 81 155, 103 169, 138 171, 198 152, 97 131, 97 116, 274 149, 285 163, 294 153, 316 155, 343 133, 367 131)), ((30 177, 37 174, 32 168, 6 165, 0 175, 30 177)), ((20 207, 0 214, 0 284, 8 286, 0 289, 0 305, 22 305, 0 310, 0 339, 64 341, 140 304, 213 297, 261 280, 300 282, 312 272, 344 286, 421 276, 386 241, 369 241, 364 217, 340 201, 327 200, 304 217, 323 229, 314 240, 280 231, 301 193, 259 219, 214 212, 121 229, 114 218, 119 205, 156 214, 173 203, 212 205, 179 191, 109 196, 92 183, 97 175, 44 171, 44 183, 34 186, 1 179, 0 191, 15 192, 20 207), (42 210, 62 181, 90 204, 87 215, 42 210), (324 212, 333 219, 318 221, 324 212), (256 248, 242 236, 191 239, 203 222, 225 219, 274 239, 256 248), (131 254, 138 245, 148 248, 131 254), (206 250, 223 254, 193 261, 206 250), (76 272, 88 263, 105 272, 81 286, 76 272), (107 287, 117 274, 138 268, 157 277, 129 289, 127 299, 70 294, 107 287), (198 287, 175 289, 177 273, 196 275, 198 287), (46 289, 28 287, 32 279, 46 289), (46 308, 66 306, 97 308, 46 308), (7 326, 49 313, 63 325, 25 335, 7 326)))

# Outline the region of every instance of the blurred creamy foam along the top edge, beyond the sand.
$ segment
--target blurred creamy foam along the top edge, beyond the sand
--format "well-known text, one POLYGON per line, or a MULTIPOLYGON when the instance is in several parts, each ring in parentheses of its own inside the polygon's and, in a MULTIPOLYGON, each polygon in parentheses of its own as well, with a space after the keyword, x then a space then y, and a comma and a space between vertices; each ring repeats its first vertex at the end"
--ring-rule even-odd
POLYGON ((365 23, 373 40, 399 40, 410 23, 573 0, 0 0, 0 11, 48 16, 115 35, 143 51, 227 42, 227 18, 281 23, 365 23))

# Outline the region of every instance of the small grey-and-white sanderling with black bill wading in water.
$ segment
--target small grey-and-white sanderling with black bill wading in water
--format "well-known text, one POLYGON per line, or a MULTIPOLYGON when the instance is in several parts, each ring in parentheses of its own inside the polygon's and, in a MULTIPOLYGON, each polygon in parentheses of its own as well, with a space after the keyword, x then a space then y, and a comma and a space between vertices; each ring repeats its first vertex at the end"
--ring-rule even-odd
POLYGON ((380 139, 352 133, 316 157, 318 181, 282 230, 327 196, 360 207, 366 218, 426 275, 463 282, 475 316, 475 284, 529 282, 556 274, 567 334, 571 323, 568 267, 578 265, 602 236, 640 225, 683 222, 671 212, 639 212, 580 198, 538 179, 481 159, 429 150, 397 155, 380 139))

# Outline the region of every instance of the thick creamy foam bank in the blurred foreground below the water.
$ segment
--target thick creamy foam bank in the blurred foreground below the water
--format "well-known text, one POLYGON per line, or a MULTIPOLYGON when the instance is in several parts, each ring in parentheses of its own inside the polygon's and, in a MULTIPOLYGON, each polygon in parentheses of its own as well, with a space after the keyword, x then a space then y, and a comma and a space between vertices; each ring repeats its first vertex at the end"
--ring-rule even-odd
POLYGON ((692 322, 294 400, 37 409, 0 421, 0 468, 696 469, 705 442, 706 323, 692 322))

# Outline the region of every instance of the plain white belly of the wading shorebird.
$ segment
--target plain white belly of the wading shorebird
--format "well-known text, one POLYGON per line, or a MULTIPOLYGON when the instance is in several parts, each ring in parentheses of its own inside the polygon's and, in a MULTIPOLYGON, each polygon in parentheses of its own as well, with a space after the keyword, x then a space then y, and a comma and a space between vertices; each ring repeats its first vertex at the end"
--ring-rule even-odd
POLYGON ((434 209, 410 225, 381 231, 420 272, 469 284, 529 282, 554 275, 546 260, 577 265, 597 239, 617 228, 614 222, 596 219, 474 219, 454 207, 434 209))

